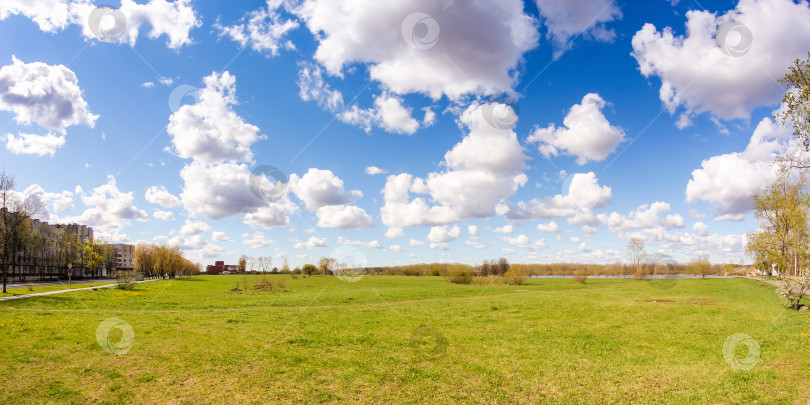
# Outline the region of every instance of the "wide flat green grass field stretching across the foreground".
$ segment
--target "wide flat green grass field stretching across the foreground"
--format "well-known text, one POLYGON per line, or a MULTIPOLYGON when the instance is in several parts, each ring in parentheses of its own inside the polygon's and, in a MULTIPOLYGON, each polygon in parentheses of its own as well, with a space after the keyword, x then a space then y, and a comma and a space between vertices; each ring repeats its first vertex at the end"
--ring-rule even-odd
POLYGON ((288 291, 198 276, 0 302, 0 403, 810 400, 810 311, 752 280, 273 277, 288 291), (97 341, 113 317, 117 355, 97 341), (736 333, 749 371, 724 358, 736 333))

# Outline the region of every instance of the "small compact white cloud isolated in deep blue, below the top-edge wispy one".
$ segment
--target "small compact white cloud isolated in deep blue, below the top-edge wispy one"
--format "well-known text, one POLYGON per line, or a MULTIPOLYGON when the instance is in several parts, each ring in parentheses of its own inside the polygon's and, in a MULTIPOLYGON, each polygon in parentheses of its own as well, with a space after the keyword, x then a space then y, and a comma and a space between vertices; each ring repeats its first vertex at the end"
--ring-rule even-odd
POLYGON ((589 160, 604 160, 624 141, 624 131, 610 125, 602 114, 605 104, 598 94, 586 94, 582 103, 574 104, 563 119, 564 128, 557 128, 554 124, 537 127, 527 141, 538 143, 540 153, 545 157, 576 156, 580 165, 589 160))

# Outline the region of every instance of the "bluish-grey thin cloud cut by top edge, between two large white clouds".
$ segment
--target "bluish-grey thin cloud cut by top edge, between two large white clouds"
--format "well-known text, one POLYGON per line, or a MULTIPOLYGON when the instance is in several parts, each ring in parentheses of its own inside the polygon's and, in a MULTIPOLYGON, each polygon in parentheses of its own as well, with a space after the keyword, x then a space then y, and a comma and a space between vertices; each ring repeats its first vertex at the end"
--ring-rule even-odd
POLYGON ((605 25, 622 17, 613 0, 537 0, 537 8, 548 28, 555 56, 570 48, 569 40, 582 36, 597 41, 612 41, 616 33, 605 25))

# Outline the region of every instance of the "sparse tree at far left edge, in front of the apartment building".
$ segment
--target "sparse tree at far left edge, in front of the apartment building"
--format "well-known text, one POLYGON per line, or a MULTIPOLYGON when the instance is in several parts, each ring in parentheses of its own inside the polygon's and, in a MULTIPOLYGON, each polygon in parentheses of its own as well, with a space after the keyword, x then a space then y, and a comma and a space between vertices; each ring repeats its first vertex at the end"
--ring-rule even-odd
POLYGON ((0 267, 3 271, 3 292, 6 292, 8 272, 23 248, 24 227, 28 219, 42 209, 35 198, 22 198, 14 191, 14 176, 0 172, 0 267))

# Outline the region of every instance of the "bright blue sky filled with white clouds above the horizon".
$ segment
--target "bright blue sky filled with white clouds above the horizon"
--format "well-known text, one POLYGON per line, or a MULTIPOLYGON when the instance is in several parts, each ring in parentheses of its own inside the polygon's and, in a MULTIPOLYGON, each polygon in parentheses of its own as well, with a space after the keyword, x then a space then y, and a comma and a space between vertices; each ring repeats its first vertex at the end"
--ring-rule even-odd
POLYGON ((570 3, 6 2, 0 159, 43 218, 204 264, 747 261, 808 4, 570 3))

